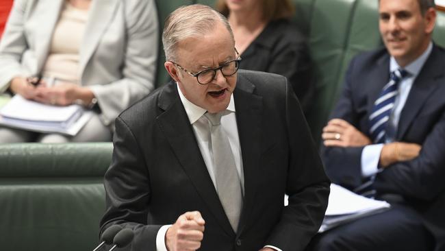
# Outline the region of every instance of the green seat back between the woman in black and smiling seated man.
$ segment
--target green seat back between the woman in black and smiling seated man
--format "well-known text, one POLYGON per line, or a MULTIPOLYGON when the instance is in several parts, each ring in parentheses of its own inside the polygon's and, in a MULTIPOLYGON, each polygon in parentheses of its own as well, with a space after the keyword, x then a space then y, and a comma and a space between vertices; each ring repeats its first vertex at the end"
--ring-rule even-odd
POLYGON ((357 53, 381 45, 381 38, 377 1, 314 0, 313 4, 309 49, 316 96, 307 120, 316 143, 320 143, 322 127, 338 98, 349 61, 357 53))

